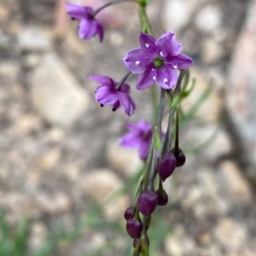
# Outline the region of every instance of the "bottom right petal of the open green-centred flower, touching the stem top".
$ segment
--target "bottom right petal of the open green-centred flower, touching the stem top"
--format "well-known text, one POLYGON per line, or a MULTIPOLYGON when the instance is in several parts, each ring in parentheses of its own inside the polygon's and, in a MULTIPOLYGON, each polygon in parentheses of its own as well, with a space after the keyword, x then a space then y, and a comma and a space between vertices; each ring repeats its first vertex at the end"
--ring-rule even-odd
POLYGON ((171 89, 177 84, 177 70, 164 65, 158 68, 157 71, 158 75, 155 82, 163 89, 171 89))

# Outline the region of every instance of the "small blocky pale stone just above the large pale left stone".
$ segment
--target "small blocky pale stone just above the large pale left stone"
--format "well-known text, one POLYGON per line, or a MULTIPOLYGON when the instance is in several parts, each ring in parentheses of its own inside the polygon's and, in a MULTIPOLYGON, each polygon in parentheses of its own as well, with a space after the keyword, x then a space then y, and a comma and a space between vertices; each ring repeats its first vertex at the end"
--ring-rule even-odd
POLYGON ((45 51, 51 49, 49 32, 36 26, 21 28, 18 35, 18 44, 22 50, 45 51))

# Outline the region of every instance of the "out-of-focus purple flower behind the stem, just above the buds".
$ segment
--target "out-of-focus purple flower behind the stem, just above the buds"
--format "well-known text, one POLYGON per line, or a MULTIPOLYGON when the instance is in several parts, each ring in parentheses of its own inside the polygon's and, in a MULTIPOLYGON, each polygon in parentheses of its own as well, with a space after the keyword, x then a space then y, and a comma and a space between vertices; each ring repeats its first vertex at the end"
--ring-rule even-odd
POLYGON ((119 139, 120 145, 124 148, 138 148, 140 158, 145 160, 153 137, 152 126, 139 121, 137 124, 128 123, 126 128, 130 132, 119 139))

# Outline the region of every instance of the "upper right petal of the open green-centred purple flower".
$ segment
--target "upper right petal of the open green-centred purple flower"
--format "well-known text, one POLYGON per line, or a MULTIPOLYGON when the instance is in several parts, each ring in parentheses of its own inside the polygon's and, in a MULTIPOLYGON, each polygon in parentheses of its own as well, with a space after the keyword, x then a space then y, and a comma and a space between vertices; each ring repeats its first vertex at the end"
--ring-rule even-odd
POLYGON ((182 45, 175 38, 174 33, 166 32, 157 39, 155 45, 166 52, 169 56, 176 56, 181 53, 182 45))

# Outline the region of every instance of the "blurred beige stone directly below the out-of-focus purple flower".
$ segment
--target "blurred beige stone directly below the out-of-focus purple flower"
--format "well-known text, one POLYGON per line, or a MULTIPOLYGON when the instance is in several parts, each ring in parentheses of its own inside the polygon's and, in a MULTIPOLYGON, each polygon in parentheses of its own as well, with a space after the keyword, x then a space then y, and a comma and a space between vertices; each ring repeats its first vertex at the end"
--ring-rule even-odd
POLYGON ((131 177, 142 166, 137 149, 122 148, 118 139, 108 143, 107 160, 113 170, 125 177, 131 177))

